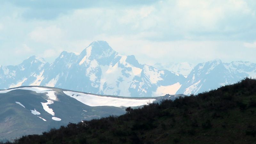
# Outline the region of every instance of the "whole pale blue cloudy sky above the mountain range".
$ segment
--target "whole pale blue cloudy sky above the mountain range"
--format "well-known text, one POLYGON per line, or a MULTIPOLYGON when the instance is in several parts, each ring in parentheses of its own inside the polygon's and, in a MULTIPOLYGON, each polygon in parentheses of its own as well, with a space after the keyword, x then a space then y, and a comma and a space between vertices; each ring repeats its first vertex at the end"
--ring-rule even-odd
POLYGON ((96 40, 144 64, 256 63, 255 0, 0 0, 0 65, 96 40))

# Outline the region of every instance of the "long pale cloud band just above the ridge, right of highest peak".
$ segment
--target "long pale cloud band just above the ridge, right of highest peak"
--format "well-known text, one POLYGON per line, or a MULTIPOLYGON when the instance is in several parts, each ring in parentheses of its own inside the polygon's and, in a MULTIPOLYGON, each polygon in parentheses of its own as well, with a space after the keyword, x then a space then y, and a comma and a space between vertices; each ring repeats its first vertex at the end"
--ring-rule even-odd
POLYGON ((135 55, 140 63, 168 64, 170 62, 189 62, 197 64, 213 59, 225 62, 244 60, 256 61, 256 49, 244 47, 237 41, 170 41, 154 42, 133 40, 127 37, 105 37, 109 45, 121 54, 135 55))

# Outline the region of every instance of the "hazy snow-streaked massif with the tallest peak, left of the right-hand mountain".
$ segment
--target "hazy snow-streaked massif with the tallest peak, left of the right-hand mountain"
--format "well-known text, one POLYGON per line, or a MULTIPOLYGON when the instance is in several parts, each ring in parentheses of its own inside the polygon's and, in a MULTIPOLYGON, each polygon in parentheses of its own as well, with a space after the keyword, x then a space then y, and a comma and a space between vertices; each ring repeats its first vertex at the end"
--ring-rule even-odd
POLYGON ((80 54, 62 52, 51 64, 35 56, 18 66, 0 68, 0 89, 40 85, 132 97, 175 94, 185 77, 168 70, 141 65, 133 55, 114 51, 95 41, 80 54))

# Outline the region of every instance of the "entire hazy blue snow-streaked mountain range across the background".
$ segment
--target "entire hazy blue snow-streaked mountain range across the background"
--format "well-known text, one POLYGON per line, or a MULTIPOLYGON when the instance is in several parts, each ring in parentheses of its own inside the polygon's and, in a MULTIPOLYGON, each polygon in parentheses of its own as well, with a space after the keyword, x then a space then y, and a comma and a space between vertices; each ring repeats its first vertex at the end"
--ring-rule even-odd
POLYGON ((154 67, 140 64, 135 56, 121 55, 107 42, 94 41, 80 54, 61 52, 51 64, 31 56, 16 66, 0 66, 0 89, 49 86, 102 95, 155 97, 197 94, 256 77, 256 64, 247 61, 213 60, 192 67, 172 62, 154 67))

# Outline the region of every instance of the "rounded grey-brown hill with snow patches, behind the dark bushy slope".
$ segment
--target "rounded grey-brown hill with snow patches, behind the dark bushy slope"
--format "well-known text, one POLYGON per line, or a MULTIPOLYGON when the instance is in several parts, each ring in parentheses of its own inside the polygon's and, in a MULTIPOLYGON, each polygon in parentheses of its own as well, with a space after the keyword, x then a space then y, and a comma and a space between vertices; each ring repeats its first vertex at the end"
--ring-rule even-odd
POLYGON ((41 134, 69 122, 122 115, 126 107, 140 107, 163 99, 102 96, 52 87, 25 86, 0 91, 0 139, 41 134))

